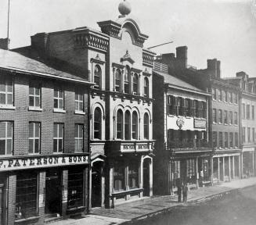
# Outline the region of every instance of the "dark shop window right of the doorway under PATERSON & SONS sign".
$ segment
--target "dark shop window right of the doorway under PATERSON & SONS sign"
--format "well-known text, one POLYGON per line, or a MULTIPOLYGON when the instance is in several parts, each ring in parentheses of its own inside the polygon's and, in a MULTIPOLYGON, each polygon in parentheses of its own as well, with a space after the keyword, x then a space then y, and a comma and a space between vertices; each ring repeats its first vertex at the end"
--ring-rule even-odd
POLYGON ((84 169, 74 167, 68 170, 67 208, 84 205, 83 199, 84 169))

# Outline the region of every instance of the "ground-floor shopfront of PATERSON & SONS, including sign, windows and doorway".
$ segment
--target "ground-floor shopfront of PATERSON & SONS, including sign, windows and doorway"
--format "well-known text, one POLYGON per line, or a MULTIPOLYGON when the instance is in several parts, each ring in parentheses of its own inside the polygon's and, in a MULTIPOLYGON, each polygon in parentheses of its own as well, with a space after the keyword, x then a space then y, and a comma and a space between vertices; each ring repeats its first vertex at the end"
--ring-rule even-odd
POLYGON ((88 155, 1 159, 2 225, 42 224, 88 208, 88 155))

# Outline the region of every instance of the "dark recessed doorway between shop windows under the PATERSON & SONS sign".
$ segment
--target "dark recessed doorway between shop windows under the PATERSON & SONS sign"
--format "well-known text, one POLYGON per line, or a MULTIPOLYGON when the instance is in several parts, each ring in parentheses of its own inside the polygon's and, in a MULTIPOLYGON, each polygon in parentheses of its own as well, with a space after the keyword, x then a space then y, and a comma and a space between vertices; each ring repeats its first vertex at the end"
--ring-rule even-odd
POLYGON ((45 214, 59 216, 61 206, 61 177, 57 170, 47 170, 45 177, 45 214))

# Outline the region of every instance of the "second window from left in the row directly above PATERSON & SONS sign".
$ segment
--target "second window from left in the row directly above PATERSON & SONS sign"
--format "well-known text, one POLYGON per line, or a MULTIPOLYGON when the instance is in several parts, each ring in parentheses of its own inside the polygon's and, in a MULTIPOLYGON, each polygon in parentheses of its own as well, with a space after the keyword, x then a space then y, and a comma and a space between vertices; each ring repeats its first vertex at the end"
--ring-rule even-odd
POLYGON ((31 154, 40 153, 40 123, 30 122, 29 123, 29 148, 28 152, 31 154))

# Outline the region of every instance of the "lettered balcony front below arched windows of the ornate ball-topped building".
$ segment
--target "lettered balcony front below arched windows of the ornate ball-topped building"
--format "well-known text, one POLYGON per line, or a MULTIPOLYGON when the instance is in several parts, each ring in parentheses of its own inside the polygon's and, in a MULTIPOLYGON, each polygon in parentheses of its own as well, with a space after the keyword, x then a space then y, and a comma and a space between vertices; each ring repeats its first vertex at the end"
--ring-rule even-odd
POLYGON ((107 145, 111 152, 153 152, 153 140, 113 140, 107 145))

